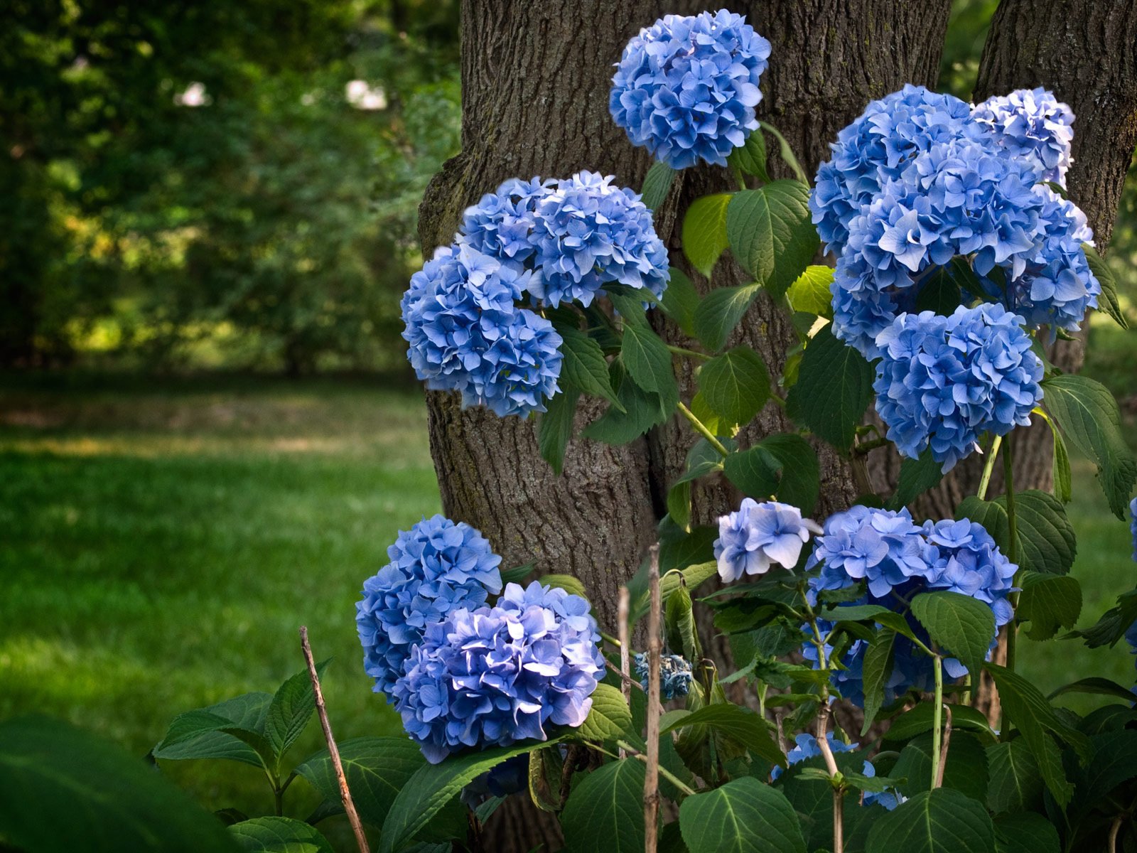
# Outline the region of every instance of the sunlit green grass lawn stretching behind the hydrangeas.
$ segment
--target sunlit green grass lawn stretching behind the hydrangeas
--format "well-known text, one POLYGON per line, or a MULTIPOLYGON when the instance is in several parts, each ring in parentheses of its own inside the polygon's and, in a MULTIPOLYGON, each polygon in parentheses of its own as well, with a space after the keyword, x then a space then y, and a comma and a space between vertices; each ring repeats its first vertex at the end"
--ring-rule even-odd
MULTIPOLYGON (((334 656, 337 736, 398 730, 359 665, 354 604, 396 531, 439 508, 417 391, 216 378, 3 384, 0 718, 64 717, 141 755, 179 712, 273 690, 301 669, 305 623, 316 656, 334 656)), ((1090 623, 1137 569, 1088 465, 1076 477, 1074 571, 1090 623)), ((1020 649, 1043 689, 1087 674, 1134 680, 1123 644, 1020 649)), ((321 743, 309 727, 292 757, 321 743)), ((272 809, 251 768, 164 768, 210 808, 272 809)), ((315 804, 302 782, 289 796, 294 815, 315 804)))

